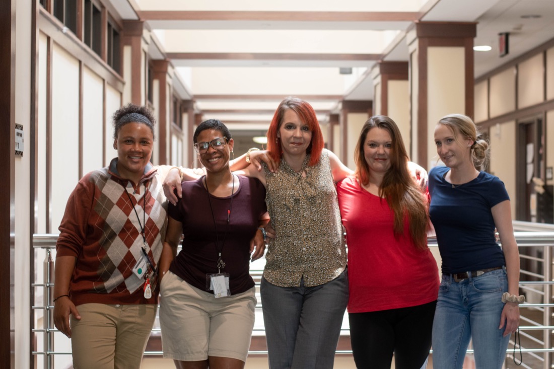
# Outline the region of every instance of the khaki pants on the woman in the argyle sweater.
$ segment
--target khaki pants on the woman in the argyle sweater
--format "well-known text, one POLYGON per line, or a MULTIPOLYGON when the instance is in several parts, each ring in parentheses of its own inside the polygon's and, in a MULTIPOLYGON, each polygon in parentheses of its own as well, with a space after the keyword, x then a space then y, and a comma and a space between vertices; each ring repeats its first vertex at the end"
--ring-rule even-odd
POLYGON ((83 304, 71 316, 75 369, 137 369, 156 319, 157 305, 83 304))

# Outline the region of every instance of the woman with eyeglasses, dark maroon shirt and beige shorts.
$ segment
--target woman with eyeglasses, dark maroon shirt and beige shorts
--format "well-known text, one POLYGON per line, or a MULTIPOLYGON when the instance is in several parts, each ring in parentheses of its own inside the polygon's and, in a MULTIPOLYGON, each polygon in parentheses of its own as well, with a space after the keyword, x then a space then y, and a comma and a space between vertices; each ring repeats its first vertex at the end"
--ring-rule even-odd
POLYGON ((266 223, 265 188, 231 172, 233 139, 219 120, 202 122, 193 142, 206 175, 183 182, 182 198, 168 209, 160 259, 163 357, 177 368, 241 369, 257 303, 249 261, 265 249, 258 228, 266 223))

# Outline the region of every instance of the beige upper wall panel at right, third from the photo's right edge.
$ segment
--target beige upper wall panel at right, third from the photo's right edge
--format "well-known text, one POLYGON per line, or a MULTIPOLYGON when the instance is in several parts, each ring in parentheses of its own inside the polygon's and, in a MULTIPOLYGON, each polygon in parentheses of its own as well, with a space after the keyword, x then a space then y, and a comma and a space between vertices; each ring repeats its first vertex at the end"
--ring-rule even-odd
POLYGON ((490 117, 516 108, 516 69, 509 68, 490 78, 490 117))

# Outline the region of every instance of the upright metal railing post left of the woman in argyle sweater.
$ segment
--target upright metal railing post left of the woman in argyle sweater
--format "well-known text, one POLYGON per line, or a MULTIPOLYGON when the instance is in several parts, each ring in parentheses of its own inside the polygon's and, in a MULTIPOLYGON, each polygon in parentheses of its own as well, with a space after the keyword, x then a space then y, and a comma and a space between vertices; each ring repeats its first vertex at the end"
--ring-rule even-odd
POLYGON ((44 259, 44 368, 54 368, 54 332, 52 332, 54 322, 54 311, 50 306, 54 305, 52 296, 52 281, 54 280, 54 261, 49 248, 46 248, 46 258, 44 259))

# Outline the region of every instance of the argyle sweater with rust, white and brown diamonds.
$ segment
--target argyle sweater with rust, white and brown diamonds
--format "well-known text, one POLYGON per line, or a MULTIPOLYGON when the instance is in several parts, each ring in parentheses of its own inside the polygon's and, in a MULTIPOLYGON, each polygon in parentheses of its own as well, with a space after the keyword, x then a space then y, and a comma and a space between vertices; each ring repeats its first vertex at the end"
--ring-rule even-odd
POLYGON ((148 256, 154 265, 160 260, 166 212, 162 180, 150 163, 139 184, 119 177, 117 158, 81 178, 68 199, 56 243, 57 257, 76 258, 69 291, 73 303, 156 304, 158 289, 145 299, 145 280, 132 269, 142 253, 140 224, 148 256))

